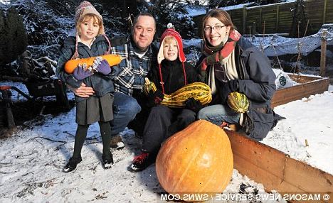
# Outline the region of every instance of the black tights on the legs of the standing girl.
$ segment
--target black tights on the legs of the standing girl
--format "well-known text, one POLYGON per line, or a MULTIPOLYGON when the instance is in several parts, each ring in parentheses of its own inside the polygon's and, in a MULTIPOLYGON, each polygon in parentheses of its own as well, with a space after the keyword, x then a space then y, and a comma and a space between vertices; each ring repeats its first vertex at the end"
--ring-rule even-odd
MULTIPOLYGON (((100 124, 100 135, 102 136, 103 143, 103 158, 110 158, 110 141, 111 141, 111 127, 109 122, 99 121, 100 124)), ((78 129, 75 134, 74 152, 73 158, 81 157, 81 149, 85 138, 87 137, 88 128, 90 125, 78 125, 78 129)))

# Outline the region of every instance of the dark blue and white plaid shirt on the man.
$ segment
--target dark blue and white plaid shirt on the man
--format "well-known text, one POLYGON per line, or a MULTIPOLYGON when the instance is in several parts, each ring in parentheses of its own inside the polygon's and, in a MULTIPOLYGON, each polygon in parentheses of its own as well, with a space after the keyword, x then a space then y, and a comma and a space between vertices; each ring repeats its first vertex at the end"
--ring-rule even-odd
POLYGON ((128 37, 127 43, 112 47, 111 53, 125 57, 119 65, 114 67, 115 92, 122 92, 129 96, 132 96, 133 92, 142 92, 144 77, 154 63, 152 46, 143 57, 139 58, 134 53, 130 37, 128 37))

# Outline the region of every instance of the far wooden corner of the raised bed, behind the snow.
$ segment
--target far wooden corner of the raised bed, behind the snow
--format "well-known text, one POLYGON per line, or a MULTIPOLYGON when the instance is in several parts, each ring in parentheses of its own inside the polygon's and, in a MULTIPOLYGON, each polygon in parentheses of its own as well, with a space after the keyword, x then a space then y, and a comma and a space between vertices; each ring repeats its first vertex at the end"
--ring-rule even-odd
POLYGON ((278 89, 272 99, 272 107, 302 99, 303 97, 310 97, 313 94, 321 94, 327 91, 329 86, 328 77, 310 77, 294 74, 289 74, 289 77, 299 84, 278 89))

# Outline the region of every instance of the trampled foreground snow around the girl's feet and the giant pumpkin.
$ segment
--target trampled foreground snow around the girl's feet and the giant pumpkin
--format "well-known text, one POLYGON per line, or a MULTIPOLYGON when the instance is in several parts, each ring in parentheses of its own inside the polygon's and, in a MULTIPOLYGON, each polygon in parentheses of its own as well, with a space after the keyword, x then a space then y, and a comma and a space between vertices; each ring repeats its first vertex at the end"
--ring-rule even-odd
MULTIPOLYGON (((11 138, 0 141, 0 202, 156 202, 164 192, 152 165, 132 173, 127 166, 139 152, 134 132, 122 133, 123 150, 113 150, 115 165, 101 165, 102 141, 97 124, 90 126, 83 162, 75 172, 62 169, 73 153, 75 108, 60 116, 45 115, 26 122, 11 138)), ((226 192, 265 194, 263 185, 236 170, 226 192)))

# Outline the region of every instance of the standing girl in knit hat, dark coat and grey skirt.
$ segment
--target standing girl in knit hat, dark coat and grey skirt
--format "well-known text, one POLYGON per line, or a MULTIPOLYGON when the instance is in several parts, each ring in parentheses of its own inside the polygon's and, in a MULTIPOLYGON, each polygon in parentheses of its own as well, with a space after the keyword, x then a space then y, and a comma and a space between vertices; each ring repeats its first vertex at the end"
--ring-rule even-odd
POLYGON ((93 87, 93 96, 78 97, 76 102, 76 123, 74 152, 64 172, 70 172, 81 162, 81 149, 87 136, 90 124, 98 121, 102 135, 102 167, 111 168, 113 164, 110 151, 111 127, 113 120, 112 103, 114 87, 112 70, 100 55, 110 53, 110 41, 104 32, 102 16, 88 1, 83 1, 75 12, 76 35, 65 39, 60 49, 57 75, 66 84, 78 88, 81 84, 93 87), (73 74, 64 71, 65 62, 74 58, 96 57, 92 68, 78 65, 73 74))

